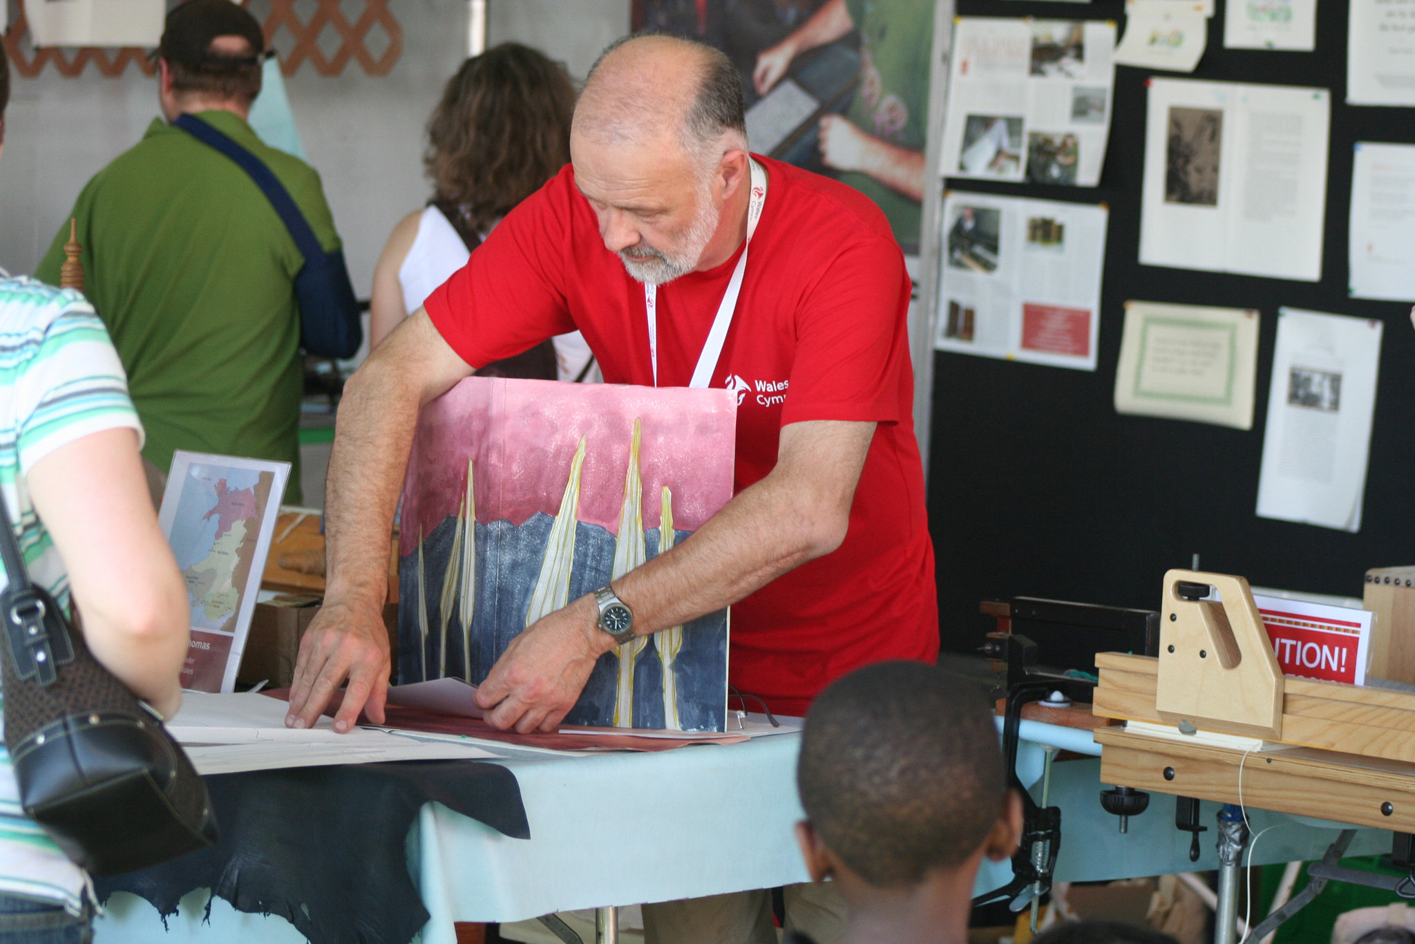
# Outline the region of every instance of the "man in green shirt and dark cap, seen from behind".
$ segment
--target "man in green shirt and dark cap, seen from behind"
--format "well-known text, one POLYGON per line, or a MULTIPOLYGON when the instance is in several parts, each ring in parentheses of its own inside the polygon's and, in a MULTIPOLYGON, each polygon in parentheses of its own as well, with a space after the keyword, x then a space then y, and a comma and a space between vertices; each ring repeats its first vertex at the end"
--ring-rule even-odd
MULTIPOLYGON (((173 10, 157 59, 166 120, 83 187, 72 217, 85 294, 147 430, 143 456, 163 471, 177 449, 289 461, 286 501, 299 502, 304 258, 245 170, 170 125, 192 113, 249 150, 338 249, 318 174, 246 123, 263 58, 260 24, 231 0, 173 10)), ((65 219, 37 277, 58 283, 68 238, 65 219)))

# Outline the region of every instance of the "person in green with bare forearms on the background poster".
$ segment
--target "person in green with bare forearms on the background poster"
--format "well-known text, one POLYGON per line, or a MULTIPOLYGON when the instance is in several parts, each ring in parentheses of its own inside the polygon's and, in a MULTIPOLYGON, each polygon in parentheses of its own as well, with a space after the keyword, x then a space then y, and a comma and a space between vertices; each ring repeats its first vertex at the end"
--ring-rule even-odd
POLYGON ((928 130, 932 0, 826 0, 798 30, 763 50, 751 79, 758 95, 807 50, 860 34, 860 84, 845 115, 821 119, 821 160, 879 204, 894 239, 918 251, 928 130))

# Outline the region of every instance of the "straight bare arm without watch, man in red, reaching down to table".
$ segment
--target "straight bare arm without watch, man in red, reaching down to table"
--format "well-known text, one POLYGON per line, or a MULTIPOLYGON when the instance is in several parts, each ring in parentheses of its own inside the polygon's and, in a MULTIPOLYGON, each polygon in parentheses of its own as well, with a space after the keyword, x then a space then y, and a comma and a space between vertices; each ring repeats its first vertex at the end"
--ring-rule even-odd
POLYGON ((352 727, 359 709, 383 720, 388 535, 417 410, 471 372, 419 309, 345 384, 325 483, 328 583, 324 606, 300 640, 287 725, 313 726, 345 679, 335 730, 352 727))

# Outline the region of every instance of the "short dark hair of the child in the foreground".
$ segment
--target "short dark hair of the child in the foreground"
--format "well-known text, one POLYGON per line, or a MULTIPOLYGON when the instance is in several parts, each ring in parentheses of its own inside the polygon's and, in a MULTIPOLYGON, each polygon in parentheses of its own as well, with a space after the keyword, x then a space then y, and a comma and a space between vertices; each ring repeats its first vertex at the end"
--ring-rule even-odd
POLYGON ((1006 797, 990 705, 932 665, 850 672, 807 715, 797 788, 825 845, 870 885, 916 885, 957 868, 1006 797))

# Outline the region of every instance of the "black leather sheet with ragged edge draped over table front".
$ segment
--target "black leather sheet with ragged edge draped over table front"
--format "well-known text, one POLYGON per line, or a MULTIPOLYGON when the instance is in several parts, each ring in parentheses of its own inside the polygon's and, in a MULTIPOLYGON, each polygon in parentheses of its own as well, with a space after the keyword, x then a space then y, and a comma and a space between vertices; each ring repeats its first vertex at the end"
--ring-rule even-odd
MULTIPOLYGON (((422 760, 299 767, 205 778, 221 841, 151 869, 96 879, 166 919, 194 889, 239 911, 277 914, 311 944, 406 944, 427 921, 409 873, 408 829, 427 801, 529 839, 521 787, 499 764, 422 760)), ((209 904, 208 904, 209 911, 209 904)))

